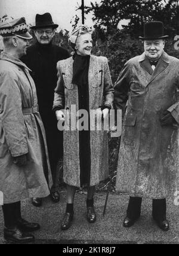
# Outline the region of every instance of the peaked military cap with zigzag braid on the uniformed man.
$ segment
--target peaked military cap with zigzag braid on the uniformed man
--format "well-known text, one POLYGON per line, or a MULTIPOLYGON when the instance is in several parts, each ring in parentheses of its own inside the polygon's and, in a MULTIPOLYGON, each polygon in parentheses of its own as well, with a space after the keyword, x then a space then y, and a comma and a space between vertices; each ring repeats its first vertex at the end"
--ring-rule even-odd
POLYGON ((16 35, 23 39, 32 39, 28 31, 29 26, 27 26, 24 17, 11 21, 6 20, 0 25, 0 35, 3 37, 16 35))

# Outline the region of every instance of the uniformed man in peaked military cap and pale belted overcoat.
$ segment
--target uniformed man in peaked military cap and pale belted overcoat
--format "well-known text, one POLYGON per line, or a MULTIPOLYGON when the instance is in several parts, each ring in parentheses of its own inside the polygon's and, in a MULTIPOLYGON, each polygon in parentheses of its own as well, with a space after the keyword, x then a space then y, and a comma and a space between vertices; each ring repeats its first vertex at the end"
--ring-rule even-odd
POLYGON ((50 194, 44 172, 51 181, 35 84, 29 68, 20 60, 32 36, 24 18, 3 23, 0 35, 4 41, 0 59, 0 191, 4 203, 4 237, 13 242, 30 242, 34 237, 24 232, 38 230, 40 226, 21 218, 20 201, 50 194))

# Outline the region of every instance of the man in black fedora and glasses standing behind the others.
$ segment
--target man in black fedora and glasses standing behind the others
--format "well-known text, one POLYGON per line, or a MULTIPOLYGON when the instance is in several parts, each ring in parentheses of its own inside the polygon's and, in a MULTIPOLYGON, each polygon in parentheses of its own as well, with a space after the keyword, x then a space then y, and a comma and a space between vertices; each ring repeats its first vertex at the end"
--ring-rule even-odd
MULTIPOLYGON (((53 44, 55 29, 50 13, 43 15, 36 14, 36 25, 31 29, 35 32, 36 43, 27 49, 23 62, 32 70, 32 77, 35 80, 38 95, 39 112, 45 126, 47 135, 48 153, 53 175, 53 187, 51 188, 51 199, 59 202, 57 179, 57 163, 63 156, 63 133, 57 129, 57 121, 52 111, 54 90, 57 86, 57 62, 67 59, 69 53, 61 47, 53 44)), ((33 198, 35 206, 42 205, 42 199, 33 198)))

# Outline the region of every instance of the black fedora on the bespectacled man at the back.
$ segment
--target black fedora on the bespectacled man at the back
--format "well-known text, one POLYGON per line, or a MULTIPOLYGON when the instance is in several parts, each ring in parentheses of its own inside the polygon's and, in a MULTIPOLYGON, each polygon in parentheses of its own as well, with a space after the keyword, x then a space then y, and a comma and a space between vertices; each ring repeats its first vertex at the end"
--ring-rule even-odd
POLYGON ((30 29, 44 28, 44 27, 52 27, 54 29, 58 28, 57 24, 53 23, 53 19, 50 13, 45 14, 36 14, 35 18, 35 26, 30 27, 30 29))

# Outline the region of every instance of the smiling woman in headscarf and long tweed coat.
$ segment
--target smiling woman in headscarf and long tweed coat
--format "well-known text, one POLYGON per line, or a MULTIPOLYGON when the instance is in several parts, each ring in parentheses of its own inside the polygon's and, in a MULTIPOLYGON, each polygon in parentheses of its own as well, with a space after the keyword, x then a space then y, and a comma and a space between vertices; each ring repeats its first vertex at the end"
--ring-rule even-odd
MULTIPOLYGON (((55 89, 54 111, 57 120, 64 117, 61 109, 88 113, 95 109, 106 118, 113 103, 113 86, 107 59, 91 55, 91 29, 80 26, 72 32, 70 42, 75 50, 73 57, 57 64, 58 82, 55 89)), ((76 112, 75 112, 76 113, 76 112)), ((73 120, 69 115, 66 120, 73 120)), ((91 117, 91 116, 90 116, 91 117)), ((64 182, 67 184, 67 209, 62 230, 67 230, 73 220, 73 200, 76 187, 88 187, 87 220, 94 223, 95 185, 108 176, 108 140, 104 130, 90 130, 90 117, 84 130, 68 124, 64 131, 64 182)), ((76 114, 75 114, 76 120, 76 114)), ((67 121, 68 123, 68 121, 67 121)), ((86 124, 85 124, 86 125, 86 124)))

